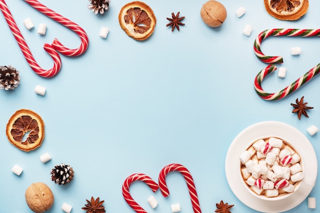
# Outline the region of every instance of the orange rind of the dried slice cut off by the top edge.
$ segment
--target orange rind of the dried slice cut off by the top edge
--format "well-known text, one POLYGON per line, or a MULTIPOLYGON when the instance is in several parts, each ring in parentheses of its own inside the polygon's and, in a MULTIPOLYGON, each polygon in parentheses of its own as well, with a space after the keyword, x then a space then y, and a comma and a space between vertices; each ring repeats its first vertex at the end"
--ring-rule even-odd
POLYGON ((265 6, 266 11, 269 13, 269 15, 271 15, 277 19, 280 19, 280 20, 297 20, 297 19, 301 18, 308 11, 309 0, 304 0, 302 4, 303 5, 301 6, 300 10, 291 14, 291 15, 279 15, 270 9, 271 8, 270 0, 264 0, 264 6, 265 6))

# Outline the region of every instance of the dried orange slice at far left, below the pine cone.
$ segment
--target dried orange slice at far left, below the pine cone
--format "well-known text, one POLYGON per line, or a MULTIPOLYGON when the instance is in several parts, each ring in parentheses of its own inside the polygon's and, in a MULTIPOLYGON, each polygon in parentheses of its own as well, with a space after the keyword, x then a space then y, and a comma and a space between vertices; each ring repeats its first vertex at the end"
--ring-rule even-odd
POLYGON ((10 117, 6 134, 13 146, 29 152, 41 145, 44 137, 44 123, 40 115, 34 111, 20 109, 10 117), (25 134, 28 134, 25 136, 26 139, 25 134))

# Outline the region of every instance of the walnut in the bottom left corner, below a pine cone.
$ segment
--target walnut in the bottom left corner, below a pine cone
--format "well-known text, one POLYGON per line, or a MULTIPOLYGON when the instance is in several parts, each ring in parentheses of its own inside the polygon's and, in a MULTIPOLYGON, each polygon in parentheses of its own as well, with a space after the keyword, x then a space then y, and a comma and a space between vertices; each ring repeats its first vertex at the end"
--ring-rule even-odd
POLYGON ((54 201, 49 186, 41 182, 32 183, 27 188, 25 197, 29 208, 36 213, 47 211, 54 201))

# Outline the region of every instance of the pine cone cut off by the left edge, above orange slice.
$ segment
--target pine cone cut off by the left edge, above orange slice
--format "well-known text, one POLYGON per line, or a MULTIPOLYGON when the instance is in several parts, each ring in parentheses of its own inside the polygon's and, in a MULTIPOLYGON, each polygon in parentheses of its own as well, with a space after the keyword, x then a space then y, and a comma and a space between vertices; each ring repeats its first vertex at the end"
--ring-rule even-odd
POLYGON ((19 71, 13 66, 0 66, 0 89, 14 89, 20 83, 19 71))

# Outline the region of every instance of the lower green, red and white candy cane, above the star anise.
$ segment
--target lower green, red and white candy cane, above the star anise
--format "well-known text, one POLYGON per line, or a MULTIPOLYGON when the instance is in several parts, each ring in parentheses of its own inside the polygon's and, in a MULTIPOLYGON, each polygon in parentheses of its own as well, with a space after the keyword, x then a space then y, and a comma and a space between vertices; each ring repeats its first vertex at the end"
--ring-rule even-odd
POLYGON ((275 92, 275 93, 268 93, 262 89, 261 83, 268 74, 274 72, 276 69, 277 67, 275 64, 269 64, 267 67, 262 69, 255 78, 255 90, 257 94, 264 100, 270 101, 270 100, 282 99, 286 97, 288 94, 290 94, 291 92, 299 89, 303 84, 310 81, 313 77, 315 77, 319 73, 320 63, 314 66, 307 73, 305 73, 303 76, 301 76, 299 79, 297 79, 296 81, 294 81, 289 86, 282 89, 281 91, 275 92))

